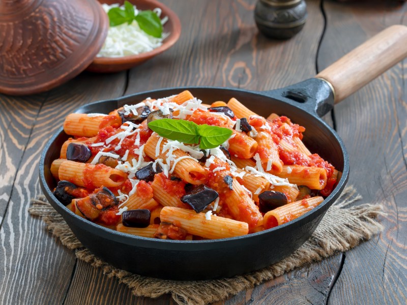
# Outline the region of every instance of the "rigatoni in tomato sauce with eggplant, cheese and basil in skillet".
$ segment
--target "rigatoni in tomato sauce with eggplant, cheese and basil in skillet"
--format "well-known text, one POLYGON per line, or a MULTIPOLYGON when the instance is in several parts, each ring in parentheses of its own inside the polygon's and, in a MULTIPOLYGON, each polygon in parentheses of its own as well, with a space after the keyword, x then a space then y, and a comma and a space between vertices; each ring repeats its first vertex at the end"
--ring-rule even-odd
POLYGON ((50 168, 54 195, 76 215, 136 236, 267 230, 321 204, 340 177, 304 145, 303 127, 232 97, 203 104, 185 90, 108 115, 70 114, 64 131, 73 137, 50 168), (165 119, 172 127, 151 124, 165 119))

